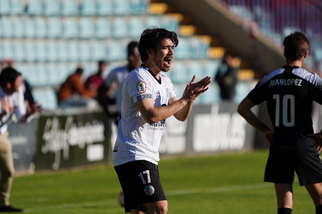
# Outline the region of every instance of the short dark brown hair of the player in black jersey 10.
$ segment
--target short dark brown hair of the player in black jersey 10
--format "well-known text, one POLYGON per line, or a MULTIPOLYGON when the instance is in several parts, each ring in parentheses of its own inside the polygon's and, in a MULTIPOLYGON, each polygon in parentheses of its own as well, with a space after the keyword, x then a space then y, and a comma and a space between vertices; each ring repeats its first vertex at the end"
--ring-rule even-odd
POLYGON ((295 61, 301 59, 308 50, 309 45, 308 38, 301 32, 294 32, 285 37, 283 46, 286 60, 295 61))

